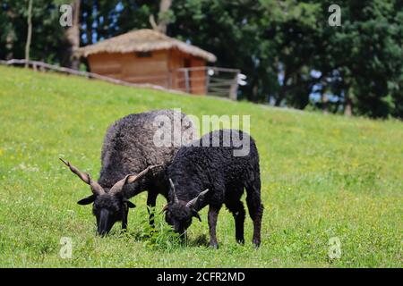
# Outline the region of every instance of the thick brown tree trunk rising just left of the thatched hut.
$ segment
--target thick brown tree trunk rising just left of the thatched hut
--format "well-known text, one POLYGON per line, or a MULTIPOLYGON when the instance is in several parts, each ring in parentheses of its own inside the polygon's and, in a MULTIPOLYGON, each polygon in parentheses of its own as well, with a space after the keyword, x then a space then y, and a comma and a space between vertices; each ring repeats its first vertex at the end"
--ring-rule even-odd
POLYGON ((73 7, 73 21, 72 26, 68 27, 64 32, 64 56, 62 65, 73 70, 78 70, 80 66, 80 59, 74 56, 74 52, 80 47, 80 5, 81 0, 74 0, 73 7))

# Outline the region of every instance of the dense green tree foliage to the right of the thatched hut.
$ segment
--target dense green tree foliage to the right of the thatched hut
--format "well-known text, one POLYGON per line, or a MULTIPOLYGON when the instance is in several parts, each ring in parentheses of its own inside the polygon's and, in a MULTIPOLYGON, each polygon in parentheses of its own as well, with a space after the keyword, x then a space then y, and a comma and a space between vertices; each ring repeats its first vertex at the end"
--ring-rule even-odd
POLYGON ((339 112, 348 97, 354 114, 401 117, 401 4, 339 2, 341 27, 328 23, 330 4, 176 1, 176 22, 169 30, 218 55, 219 65, 240 67, 248 75, 242 97, 249 100, 272 97, 275 105, 304 109, 313 88, 321 85, 322 94, 339 97, 330 112, 339 112), (313 78, 313 70, 322 76, 313 78))

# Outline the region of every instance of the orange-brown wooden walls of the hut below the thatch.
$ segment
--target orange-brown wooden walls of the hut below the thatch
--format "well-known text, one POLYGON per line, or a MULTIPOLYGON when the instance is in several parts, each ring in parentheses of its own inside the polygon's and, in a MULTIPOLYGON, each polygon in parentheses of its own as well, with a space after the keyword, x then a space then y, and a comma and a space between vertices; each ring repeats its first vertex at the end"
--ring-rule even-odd
POLYGON ((205 66, 205 60, 184 54, 176 49, 149 53, 100 53, 89 55, 90 71, 117 80, 150 83, 193 94, 206 94, 205 70, 185 72, 180 68, 205 66))

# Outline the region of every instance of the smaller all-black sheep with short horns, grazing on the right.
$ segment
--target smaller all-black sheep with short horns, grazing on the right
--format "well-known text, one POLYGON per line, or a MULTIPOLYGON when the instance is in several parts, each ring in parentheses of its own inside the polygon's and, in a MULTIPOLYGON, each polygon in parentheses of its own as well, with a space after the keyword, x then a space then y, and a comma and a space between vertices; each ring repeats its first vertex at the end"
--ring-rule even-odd
POLYGON ((175 231, 184 233, 193 216, 201 221, 198 211, 209 206, 210 246, 218 248, 217 217, 225 204, 235 218, 236 240, 244 243, 245 212, 240 198, 246 189, 246 203, 254 227, 253 244, 260 246, 263 206, 259 155, 247 133, 210 132, 191 146, 181 147, 167 173, 171 182, 170 202, 163 211, 175 231), (241 149, 246 152, 235 156, 241 149))

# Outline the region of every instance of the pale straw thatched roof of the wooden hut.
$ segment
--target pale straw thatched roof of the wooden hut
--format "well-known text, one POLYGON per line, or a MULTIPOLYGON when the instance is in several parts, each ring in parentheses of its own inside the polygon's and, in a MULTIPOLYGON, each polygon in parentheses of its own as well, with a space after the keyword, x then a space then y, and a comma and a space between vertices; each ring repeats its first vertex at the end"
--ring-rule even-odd
POLYGON ((215 55, 175 38, 169 38, 153 29, 138 29, 114 38, 108 38, 97 44, 79 48, 76 55, 87 57, 98 53, 150 52, 177 48, 185 54, 199 56, 209 62, 217 60, 215 55))

